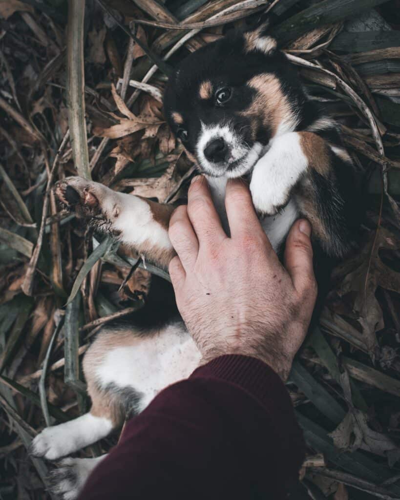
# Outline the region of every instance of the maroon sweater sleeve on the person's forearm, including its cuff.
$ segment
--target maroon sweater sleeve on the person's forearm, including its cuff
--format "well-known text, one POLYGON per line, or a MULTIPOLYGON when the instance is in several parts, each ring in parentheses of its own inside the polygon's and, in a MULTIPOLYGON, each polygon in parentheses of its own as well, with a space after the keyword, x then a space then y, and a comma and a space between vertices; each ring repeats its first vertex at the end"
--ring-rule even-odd
POLYGON ((78 500, 280 500, 304 449, 278 375, 255 358, 225 355, 129 420, 78 500))

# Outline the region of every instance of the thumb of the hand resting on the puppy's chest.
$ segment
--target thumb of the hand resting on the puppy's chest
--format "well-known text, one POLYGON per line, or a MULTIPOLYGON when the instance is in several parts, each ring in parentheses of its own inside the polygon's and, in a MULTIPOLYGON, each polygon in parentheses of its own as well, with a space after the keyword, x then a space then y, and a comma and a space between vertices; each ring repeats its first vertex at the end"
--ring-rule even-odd
POLYGON ((311 225, 308 220, 299 219, 294 222, 286 238, 284 265, 298 293, 312 291, 316 296, 310 235, 311 225))

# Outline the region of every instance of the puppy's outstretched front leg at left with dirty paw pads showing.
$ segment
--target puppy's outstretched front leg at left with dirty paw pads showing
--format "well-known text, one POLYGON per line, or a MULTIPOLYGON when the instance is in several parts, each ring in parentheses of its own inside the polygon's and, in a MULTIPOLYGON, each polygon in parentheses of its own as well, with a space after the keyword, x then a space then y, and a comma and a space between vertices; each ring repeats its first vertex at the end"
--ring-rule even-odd
POLYGON ((55 194, 67 209, 87 218, 92 227, 114 236, 155 264, 168 267, 175 254, 168 237, 173 206, 116 192, 82 177, 57 182, 55 194))

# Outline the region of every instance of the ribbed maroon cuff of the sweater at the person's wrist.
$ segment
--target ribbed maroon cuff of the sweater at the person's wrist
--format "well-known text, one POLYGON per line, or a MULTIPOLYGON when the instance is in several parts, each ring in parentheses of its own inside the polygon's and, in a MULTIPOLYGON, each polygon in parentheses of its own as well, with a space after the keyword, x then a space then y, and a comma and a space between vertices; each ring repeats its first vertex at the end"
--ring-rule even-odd
POLYGON ((217 378, 244 389, 263 406, 290 404, 290 397, 279 375, 264 362, 251 356, 226 354, 200 366, 189 378, 217 378))

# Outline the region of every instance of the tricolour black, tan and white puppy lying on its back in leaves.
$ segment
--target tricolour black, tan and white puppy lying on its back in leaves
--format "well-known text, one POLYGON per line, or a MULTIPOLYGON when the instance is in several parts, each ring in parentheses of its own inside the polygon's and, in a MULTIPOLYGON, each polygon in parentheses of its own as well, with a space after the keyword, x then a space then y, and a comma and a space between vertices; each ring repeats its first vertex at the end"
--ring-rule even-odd
MULTIPOLYGON (((207 176, 226 231, 225 185, 241 176, 275 250, 305 216, 325 254, 348 251, 357 225, 351 158, 335 122, 307 97, 295 68, 262 26, 232 32, 184 59, 165 89, 164 114, 207 176)), ((55 192, 89 225, 167 268, 174 255, 172 206, 80 177, 58 182, 55 192)), ((164 286, 153 280, 152 288, 163 292, 164 286)), ((105 437, 197 366, 200 354, 181 319, 160 314, 162 301, 152 297, 150 292, 129 324, 106 325, 97 334, 83 359, 90 412, 45 428, 32 442, 34 455, 58 459, 105 437)), ((64 459, 53 472, 54 490, 64 500, 75 498, 102 458, 64 459)))

